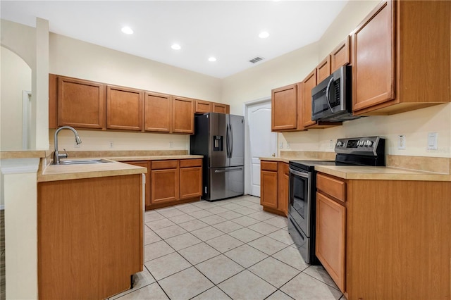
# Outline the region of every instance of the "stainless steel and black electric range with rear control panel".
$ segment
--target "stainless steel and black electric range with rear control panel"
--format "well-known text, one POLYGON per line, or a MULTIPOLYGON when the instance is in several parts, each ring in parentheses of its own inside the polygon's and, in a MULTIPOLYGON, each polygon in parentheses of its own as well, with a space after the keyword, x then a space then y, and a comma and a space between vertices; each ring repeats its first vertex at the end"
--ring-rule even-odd
POLYGON ((288 232, 306 263, 315 256, 316 172, 315 165, 385 165, 383 137, 337 139, 335 161, 290 161, 288 232))

